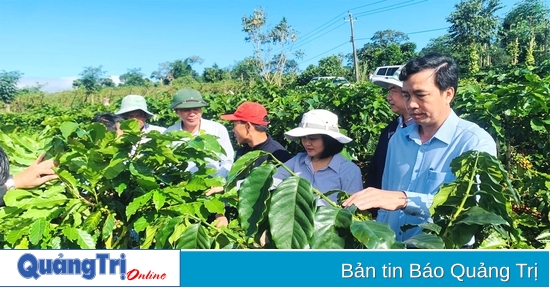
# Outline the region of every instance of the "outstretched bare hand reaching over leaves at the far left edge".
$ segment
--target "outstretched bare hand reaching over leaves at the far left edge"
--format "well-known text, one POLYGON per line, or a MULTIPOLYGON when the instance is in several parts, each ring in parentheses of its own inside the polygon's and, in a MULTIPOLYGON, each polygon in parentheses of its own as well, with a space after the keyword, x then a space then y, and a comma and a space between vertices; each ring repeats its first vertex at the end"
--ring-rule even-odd
POLYGON ((58 178, 53 171, 55 163, 53 160, 44 160, 46 154, 40 155, 31 166, 13 177, 15 188, 25 189, 38 187, 50 180, 58 178))

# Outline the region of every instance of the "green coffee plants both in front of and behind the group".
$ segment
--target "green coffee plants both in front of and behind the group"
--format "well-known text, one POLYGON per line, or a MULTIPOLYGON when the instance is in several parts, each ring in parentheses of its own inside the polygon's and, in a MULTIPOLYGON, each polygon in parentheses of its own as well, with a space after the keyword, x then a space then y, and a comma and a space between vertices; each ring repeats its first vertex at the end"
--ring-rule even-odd
MULTIPOLYGON (((115 94, 114 107, 44 104, 0 115, 5 123, 0 145, 12 169, 48 151, 59 162, 61 176, 5 197, 0 242, 20 248, 457 248, 475 235, 476 245, 484 248, 542 248, 550 239, 549 67, 545 62, 462 83, 453 107, 493 135, 499 157, 465 153, 455 159, 457 179, 441 188, 431 207, 439 220, 423 225, 425 233, 406 243, 395 242, 389 227, 339 203, 315 207, 314 197, 323 196, 299 177, 269 192, 271 176, 284 167, 271 162, 250 170, 260 153, 237 161, 224 181, 209 176, 212 171, 204 166, 204 158, 215 157, 219 149, 208 135, 154 133, 144 142, 132 121, 123 124, 125 134, 118 138, 89 123, 95 113, 118 108, 123 95, 115 94), (171 144, 182 137, 189 141, 171 144), (198 164, 198 172, 185 172, 189 161, 198 164), (206 196, 218 185, 224 193, 206 196), (484 200, 475 201, 478 195, 484 200), (222 212, 224 203, 239 216, 228 227, 216 228, 211 216, 222 212)), ((167 107, 177 88, 145 95, 157 114, 155 124, 176 121, 167 107)), ((350 157, 368 163, 376 136, 394 117, 381 95, 370 83, 338 87, 321 82, 295 89, 261 84, 235 95, 205 92, 210 106, 204 117, 219 119, 245 100, 259 101, 270 112, 272 136, 295 153, 300 146, 284 140, 283 132, 295 127, 305 111, 332 110, 355 139, 348 147, 350 157)))

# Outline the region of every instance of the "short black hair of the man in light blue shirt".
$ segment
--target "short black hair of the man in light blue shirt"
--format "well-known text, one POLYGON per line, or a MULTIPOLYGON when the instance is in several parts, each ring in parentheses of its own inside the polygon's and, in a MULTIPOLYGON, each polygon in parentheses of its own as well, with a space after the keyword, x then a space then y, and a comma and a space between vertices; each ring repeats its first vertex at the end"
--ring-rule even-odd
POLYGON ((406 81, 415 73, 426 69, 435 69, 434 81, 439 91, 443 92, 453 87, 458 89, 458 66, 453 58, 439 53, 428 53, 409 61, 399 74, 399 80, 406 81))

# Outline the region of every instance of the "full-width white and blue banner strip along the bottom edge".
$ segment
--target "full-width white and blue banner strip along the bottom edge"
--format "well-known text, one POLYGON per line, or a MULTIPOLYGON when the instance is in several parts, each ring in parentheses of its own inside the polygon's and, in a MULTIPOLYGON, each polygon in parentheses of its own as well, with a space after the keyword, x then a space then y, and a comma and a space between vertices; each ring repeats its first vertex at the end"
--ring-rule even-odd
POLYGON ((549 287, 548 250, 0 250, 0 287, 549 287))

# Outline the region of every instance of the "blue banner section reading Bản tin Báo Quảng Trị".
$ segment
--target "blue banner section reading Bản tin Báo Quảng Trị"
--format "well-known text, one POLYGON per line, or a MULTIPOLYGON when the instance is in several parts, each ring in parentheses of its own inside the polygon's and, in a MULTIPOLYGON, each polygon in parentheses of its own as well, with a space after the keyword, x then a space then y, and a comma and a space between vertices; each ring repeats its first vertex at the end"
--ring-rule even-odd
POLYGON ((184 250, 182 287, 549 287, 544 250, 184 250))

